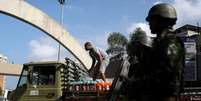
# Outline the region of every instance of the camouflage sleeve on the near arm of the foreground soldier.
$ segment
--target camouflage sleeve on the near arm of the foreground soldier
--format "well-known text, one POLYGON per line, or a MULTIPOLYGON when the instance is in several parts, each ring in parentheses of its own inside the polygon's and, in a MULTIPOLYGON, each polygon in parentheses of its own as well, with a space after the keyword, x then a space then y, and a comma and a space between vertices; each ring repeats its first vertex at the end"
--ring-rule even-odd
POLYGON ((181 91, 183 81, 184 48, 177 39, 167 42, 156 71, 158 84, 167 91, 177 95, 181 91))

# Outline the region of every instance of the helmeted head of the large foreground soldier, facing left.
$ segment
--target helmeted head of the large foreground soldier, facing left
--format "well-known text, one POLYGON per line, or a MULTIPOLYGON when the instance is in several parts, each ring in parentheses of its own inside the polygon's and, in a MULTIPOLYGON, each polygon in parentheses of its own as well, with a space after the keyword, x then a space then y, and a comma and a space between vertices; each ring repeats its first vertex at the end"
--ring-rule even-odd
POLYGON ((165 28, 172 28, 177 21, 176 10, 167 3, 154 5, 146 17, 151 33, 159 34, 165 28))

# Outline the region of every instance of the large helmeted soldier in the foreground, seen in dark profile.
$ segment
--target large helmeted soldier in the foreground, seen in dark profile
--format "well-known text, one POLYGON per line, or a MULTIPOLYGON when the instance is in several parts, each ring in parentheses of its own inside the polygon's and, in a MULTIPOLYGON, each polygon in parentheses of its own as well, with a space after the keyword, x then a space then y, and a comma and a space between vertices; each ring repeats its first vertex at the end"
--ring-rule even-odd
POLYGON ((149 72, 144 75, 147 85, 142 101, 177 101, 183 89, 185 51, 173 30, 176 20, 176 10, 170 4, 157 4, 149 10, 146 21, 157 37, 146 68, 149 72))

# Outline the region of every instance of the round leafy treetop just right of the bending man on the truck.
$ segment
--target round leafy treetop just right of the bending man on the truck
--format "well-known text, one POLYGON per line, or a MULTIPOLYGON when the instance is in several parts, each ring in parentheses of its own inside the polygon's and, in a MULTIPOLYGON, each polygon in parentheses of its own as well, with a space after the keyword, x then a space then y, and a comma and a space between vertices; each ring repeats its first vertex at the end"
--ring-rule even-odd
POLYGON ((126 50, 127 42, 127 38, 122 33, 112 32, 107 39, 109 48, 106 52, 111 55, 122 53, 126 50))

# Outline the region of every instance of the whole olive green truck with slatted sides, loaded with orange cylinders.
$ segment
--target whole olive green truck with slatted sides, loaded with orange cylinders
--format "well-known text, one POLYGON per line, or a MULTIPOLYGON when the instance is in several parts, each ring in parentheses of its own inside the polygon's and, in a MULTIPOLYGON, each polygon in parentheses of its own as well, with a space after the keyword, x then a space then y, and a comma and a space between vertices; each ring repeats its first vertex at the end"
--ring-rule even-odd
POLYGON ((24 64, 17 87, 8 94, 8 99, 9 101, 107 101, 117 97, 118 93, 111 96, 113 94, 111 90, 117 91, 119 84, 94 82, 86 68, 68 58, 65 62, 30 62, 24 64))

